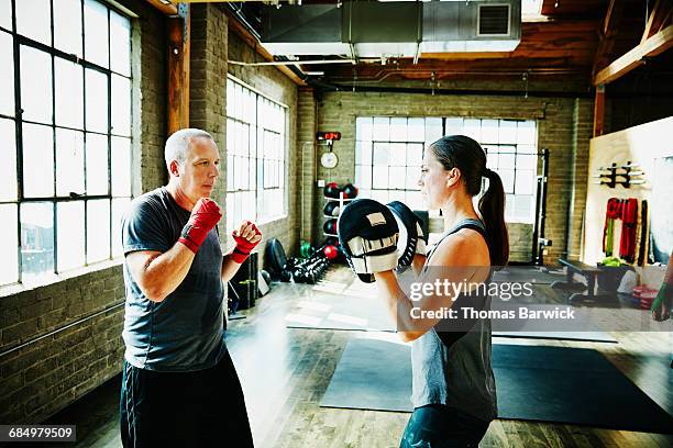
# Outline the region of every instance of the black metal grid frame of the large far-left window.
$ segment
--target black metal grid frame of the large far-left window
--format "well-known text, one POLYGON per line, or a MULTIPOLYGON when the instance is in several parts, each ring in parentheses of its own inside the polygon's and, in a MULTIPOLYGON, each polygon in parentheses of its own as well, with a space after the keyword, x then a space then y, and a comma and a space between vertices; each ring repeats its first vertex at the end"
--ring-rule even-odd
MULTIPOLYGON (((110 4, 106 1, 101 1, 101 0, 93 0, 96 3, 98 3, 100 7, 106 9, 106 19, 107 19, 107 65, 108 67, 103 67, 100 66, 98 64, 95 64, 90 60, 88 60, 86 57, 86 40, 87 40, 87 31, 86 31, 86 11, 87 11, 87 7, 86 7, 86 1, 87 0, 77 0, 79 3, 79 10, 80 10, 80 15, 79 15, 79 21, 80 21, 80 26, 81 26, 81 33, 80 33, 80 40, 81 40, 81 57, 75 54, 69 54, 67 52, 64 52, 60 48, 57 48, 56 42, 55 42, 55 27, 58 25, 56 23, 56 18, 55 18, 55 7, 57 7, 56 4, 56 0, 48 0, 48 8, 49 8, 49 44, 45 44, 38 41, 35 41, 31 37, 27 37, 25 35, 22 35, 19 33, 18 27, 18 16, 16 16, 16 1, 15 0, 11 0, 9 2, 10 4, 10 11, 11 11, 11 29, 7 29, 4 26, 0 26, 0 33, 7 33, 10 38, 12 40, 12 49, 11 49, 11 58, 13 61, 13 70, 12 70, 12 76, 13 76, 13 93, 14 93, 14 108, 13 108, 13 112, 12 114, 0 114, 0 119, 2 120, 7 120, 9 122, 11 122, 9 125, 13 126, 14 130, 14 145, 15 145, 15 181, 16 181, 16 195, 15 199, 8 199, 8 200, 0 200, 0 205, 14 205, 15 206, 15 217, 16 217, 16 238, 15 238, 15 243, 16 243, 16 266, 18 266, 18 276, 15 278, 14 281, 11 282, 7 282, 7 283, 0 283, 0 288, 4 289, 5 287, 12 287, 12 285, 22 285, 25 284, 25 280, 26 278, 31 278, 31 280, 29 281, 30 285, 33 284, 43 284, 43 283, 48 283, 52 282, 55 278, 58 278, 62 275, 66 275, 66 277, 68 276, 68 273, 70 271, 79 271, 82 268, 87 268, 89 266, 93 266, 93 265, 99 265, 99 264, 108 264, 110 260, 114 260, 115 258, 119 258, 120 255, 115 254, 115 249, 117 246, 114 244, 114 239, 113 237, 115 236, 113 234, 113 231, 118 231, 119 226, 115 226, 113 223, 113 211, 114 211, 114 203, 115 200, 128 200, 129 202, 133 199, 133 188, 132 188, 132 176, 131 172, 129 172, 129 188, 125 189, 125 191, 123 192, 124 195, 115 195, 113 193, 113 181, 112 181, 112 170, 113 170, 113 158, 112 158, 112 148, 113 148, 113 141, 115 138, 123 138, 125 141, 124 145, 128 144, 128 150, 129 150, 129 168, 132 168, 132 158, 133 158, 133 147, 134 147, 134 143, 135 143, 135 135, 133 132, 133 99, 134 99, 134 93, 133 93, 133 81, 134 81, 134 77, 136 76, 135 74, 135 69, 134 69, 134 64, 133 64, 133 49, 134 49, 134 45, 133 45, 133 27, 134 27, 134 15, 133 14, 129 14, 126 11, 120 10, 118 8, 115 8, 113 4, 110 4), (112 21, 114 20, 114 18, 112 16, 112 14, 118 14, 121 18, 128 20, 129 23, 129 74, 123 74, 120 71, 117 71, 112 68, 112 60, 113 60, 113 55, 112 55, 112 21), (30 119, 24 119, 24 111, 23 111, 23 99, 22 99, 22 77, 21 77, 21 70, 22 70, 22 58, 21 58, 21 52, 22 49, 27 48, 31 51, 37 51, 40 52, 42 55, 45 55, 46 57, 49 58, 49 70, 51 70, 51 117, 48 120, 45 120, 44 122, 41 121, 36 121, 36 120, 30 120, 30 119), (81 101, 81 126, 80 127, 73 127, 70 124, 62 124, 59 123, 59 119, 58 119, 58 114, 60 114, 60 112, 57 113, 56 110, 56 103, 57 103, 57 89, 58 86, 56 83, 56 71, 57 71, 57 66, 58 66, 58 61, 57 58, 63 59, 66 64, 71 63, 74 64, 74 66, 80 70, 81 72, 81 98, 78 99, 81 101), (87 92, 87 75, 90 72, 89 70, 93 70, 97 74, 102 74, 106 77, 106 83, 107 83, 107 124, 106 124, 106 131, 93 131, 90 130, 88 124, 87 124, 87 97, 90 97, 90 92, 87 92), (113 124, 113 102, 114 99, 112 97, 112 85, 113 85, 113 79, 114 77, 121 77, 125 80, 128 80, 129 82, 129 89, 128 89, 128 94, 129 94, 129 99, 128 101, 128 107, 129 107, 129 113, 130 113, 130 122, 129 122, 129 128, 124 130, 122 132, 115 132, 115 130, 113 130, 112 124, 113 124), (51 145, 46 146, 46 150, 51 149, 51 155, 52 155, 52 161, 53 165, 52 167, 47 167, 47 169, 51 168, 52 171, 52 176, 53 179, 49 179, 51 186, 51 195, 44 195, 44 194, 40 194, 40 195, 31 195, 31 197, 26 197, 25 195, 25 173, 24 173, 24 165, 26 163, 26 160, 24 160, 24 126, 25 125, 40 125, 40 126, 44 126, 45 128, 48 128, 48 133, 51 134, 51 145), (79 192, 73 192, 70 191, 67 195, 59 195, 59 189, 58 189, 58 182, 60 179, 59 176, 59 170, 57 167, 57 160, 58 160, 58 133, 59 131, 66 131, 66 132, 74 132, 74 133, 78 133, 81 135, 81 176, 82 176, 82 182, 84 182, 84 188, 85 190, 82 191, 82 193, 80 194, 79 192), (107 193, 98 193, 98 194, 87 194, 87 137, 89 135, 99 135, 106 138, 107 144, 106 144, 106 157, 107 158, 107 193), (99 201, 99 200, 107 200, 107 209, 108 209, 108 228, 106 229, 107 235, 108 235, 108 245, 107 245, 107 253, 108 256, 107 258, 102 258, 102 259, 97 259, 97 260, 91 260, 89 261, 89 243, 88 239, 91 237, 89 236, 88 233, 88 215, 89 215, 89 204, 90 201, 99 201), (82 235, 82 244, 84 244, 84 254, 81 254, 84 256, 84 265, 77 265, 77 266, 71 266, 71 267, 67 267, 65 269, 59 269, 59 257, 58 257, 58 239, 59 239, 59 220, 58 220, 58 204, 62 203, 81 203, 81 208, 82 208, 82 214, 84 214, 84 222, 81 223, 81 228, 84 229, 84 235, 82 235), (45 206, 48 206, 51 209, 51 213, 52 213, 52 243, 53 243, 53 254, 49 254, 49 266, 52 266, 49 269, 38 272, 35 276, 29 275, 27 272, 24 272, 23 269, 23 258, 24 258, 24 249, 23 249, 23 240, 22 240, 22 208, 24 204, 45 204, 45 206)), ((77 8, 77 7, 76 7, 77 8)), ((89 34, 90 35, 90 34, 89 34)), ((24 68, 25 70, 25 68, 24 68)), ((79 88, 79 86, 78 86, 79 88)), ((46 102, 45 102, 46 105, 46 102)), ((117 202, 119 203, 119 202, 117 202)), ((77 254, 78 256, 80 254, 77 254)))

